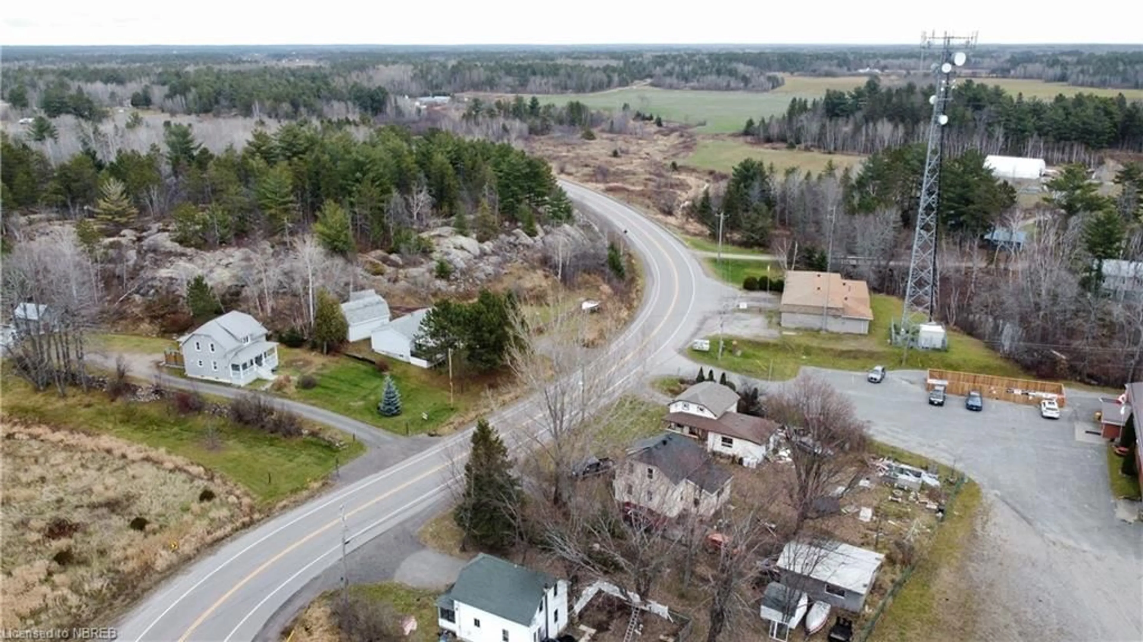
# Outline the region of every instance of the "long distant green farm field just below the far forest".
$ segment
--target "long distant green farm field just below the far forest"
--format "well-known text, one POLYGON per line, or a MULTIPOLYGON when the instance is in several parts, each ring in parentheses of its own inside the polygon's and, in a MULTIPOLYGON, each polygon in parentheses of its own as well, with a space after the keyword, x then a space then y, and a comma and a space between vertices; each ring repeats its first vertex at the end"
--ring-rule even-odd
MULTIPOLYGON (((890 85, 903 79, 887 78, 890 85)), ((1025 98, 1052 100, 1057 94, 1073 95, 1080 92, 1100 96, 1116 96, 1122 93, 1128 100, 1143 100, 1143 89, 1090 89, 1055 82, 1024 79, 974 79, 977 82, 999 85, 1006 92, 1023 93, 1025 98)), ((748 118, 758 120, 785 113, 790 100, 820 98, 826 89, 849 90, 864 85, 864 76, 838 78, 810 78, 786 76, 786 84, 773 92, 708 92, 692 89, 657 89, 655 87, 624 87, 594 94, 547 94, 539 100, 545 103, 565 104, 580 101, 598 110, 620 111, 624 104, 632 111, 650 112, 672 122, 701 125, 696 130, 704 134, 730 134, 742 132, 748 118)))

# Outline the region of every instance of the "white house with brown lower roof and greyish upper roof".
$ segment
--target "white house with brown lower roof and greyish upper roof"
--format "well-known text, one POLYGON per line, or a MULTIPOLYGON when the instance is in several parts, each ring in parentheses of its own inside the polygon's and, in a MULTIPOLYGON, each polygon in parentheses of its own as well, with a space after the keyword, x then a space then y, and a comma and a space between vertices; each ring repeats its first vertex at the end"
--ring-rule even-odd
POLYGON ((672 433, 692 437, 706 452, 730 457, 753 468, 777 445, 778 425, 737 412, 738 394, 701 381, 671 399, 663 420, 672 433))

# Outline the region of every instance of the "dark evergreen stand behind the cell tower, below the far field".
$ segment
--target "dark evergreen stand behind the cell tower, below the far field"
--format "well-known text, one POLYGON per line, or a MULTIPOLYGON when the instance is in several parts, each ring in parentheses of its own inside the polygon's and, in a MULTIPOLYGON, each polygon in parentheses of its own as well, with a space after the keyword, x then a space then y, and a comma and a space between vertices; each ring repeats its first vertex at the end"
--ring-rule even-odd
MULTIPOLYGON (((882 87, 870 79, 852 92, 826 90, 821 100, 794 98, 785 116, 744 133, 762 142, 810 145, 826 151, 873 153, 924 140, 933 86, 882 87)), ((1090 150, 1143 151, 1143 102, 1087 94, 1054 101, 1024 100, 998 86, 965 81, 949 105, 945 144, 953 151, 1082 159, 1090 150)))

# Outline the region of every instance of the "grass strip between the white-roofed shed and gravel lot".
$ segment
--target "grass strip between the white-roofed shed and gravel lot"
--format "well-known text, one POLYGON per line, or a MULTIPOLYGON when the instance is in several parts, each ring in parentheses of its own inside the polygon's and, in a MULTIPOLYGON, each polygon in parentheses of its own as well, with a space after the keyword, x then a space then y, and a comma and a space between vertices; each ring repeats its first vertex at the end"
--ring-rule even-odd
POLYGON ((976 639, 974 592, 958 581, 958 570, 972 555, 969 544, 980 507, 981 488, 967 482, 913 574, 881 613, 870 640, 930 640, 936 631, 945 640, 976 639))

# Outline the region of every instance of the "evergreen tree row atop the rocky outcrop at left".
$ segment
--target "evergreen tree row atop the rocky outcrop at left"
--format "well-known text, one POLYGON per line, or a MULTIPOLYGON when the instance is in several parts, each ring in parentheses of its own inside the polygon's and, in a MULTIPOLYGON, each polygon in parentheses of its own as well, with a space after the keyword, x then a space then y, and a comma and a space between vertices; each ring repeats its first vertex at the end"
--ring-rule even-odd
POLYGON ((504 223, 572 219, 544 160, 441 132, 383 127, 359 141, 336 127, 288 124, 215 154, 190 126, 169 125, 161 148, 120 150, 110 161, 85 149, 57 167, 27 143, 3 135, 0 144, 6 211, 93 211, 112 228, 169 215, 179 241, 200 247, 317 224, 338 253, 416 251, 411 232, 434 220, 466 231, 473 216, 485 240, 504 223))

